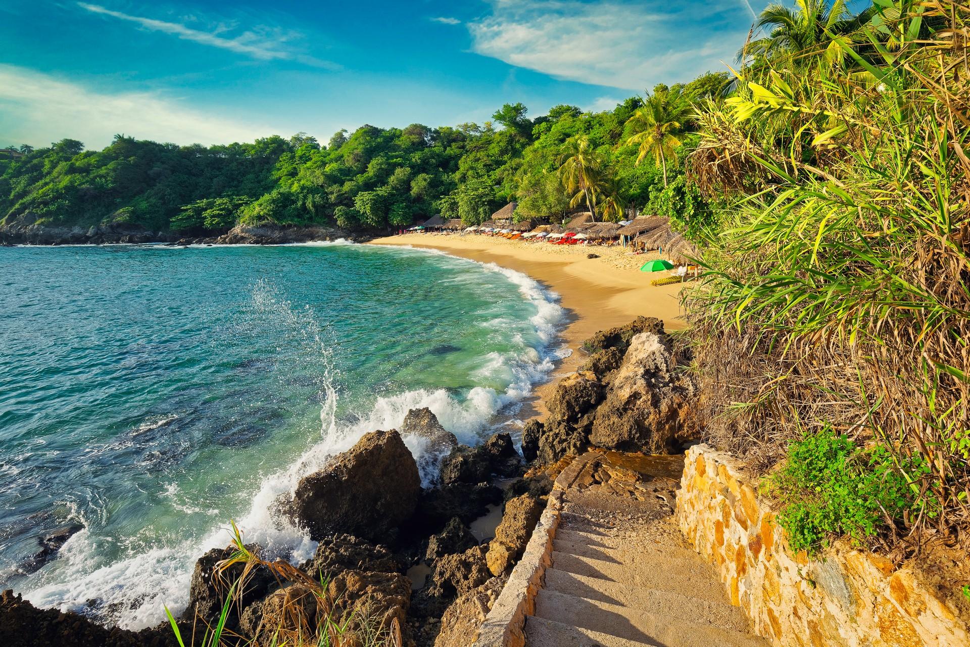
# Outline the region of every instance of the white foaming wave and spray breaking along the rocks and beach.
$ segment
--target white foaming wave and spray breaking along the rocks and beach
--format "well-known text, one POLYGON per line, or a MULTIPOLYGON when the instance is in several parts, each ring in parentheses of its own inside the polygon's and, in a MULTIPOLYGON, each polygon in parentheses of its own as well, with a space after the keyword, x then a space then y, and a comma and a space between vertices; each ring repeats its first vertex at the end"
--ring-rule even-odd
MULTIPOLYGON (((442 252, 419 250, 418 253, 442 252)), ((245 541, 260 544, 266 556, 288 559, 294 565, 312 556, 316 542, 275 515, 275 501, 281 495, 292 493, 303 476, 324 467, 333 456, 352 447, 360 437, 377 429, 400 428, 408 410, 427 406, 436 414, 442 426, 454 433, 461 442, 477 444, 490 429, 497 414, 514 411, 515 406, 531 393, 533 385, 548 377, 554 362, 566 356, 567 351, 557 343, 558 331, 566 318, 565 310, 558 304, 558 295, 546 290, 528 275, 493 263, 477 263, 443 255, 463 263, 476 263, 489 272, 503 275, 534 307, 535 313, 530 318, 534 333, 530 336, 532 342, 519 335, 514 337, 513 352, 494 352, 481 358, 477 376, 506 383, 508 386, 501 392, 482 386, 475 386, 462 394, 446 389, 414 389, 380 396, 362 414, 340 419, 339 372, 331 355, 333 344, 325 342, 326 332, 315 323, 312 312, 293 307, 277 294, 271 284, 259 281, 254 286, 253 311, 262 316, 273 316, 282 328, 291 330, 294 336, 299 337, 306 345, 306 352, 320 363, 322 373, 318 384, 322 403, 320 439, 291 465, 263 478, 251 497, 248 510, 236 520, 245 541)), ((173 419, 169 417, 155 417, 138 426, 135 434, 144 434, 172 422, 173 419)), ((404 441, 418 460, 423 483, 429 484, 436 476, 440 456, 430 454, 422 438, 404 437, 404 441)), ((176 483, 165 484, 163 496, 182 513, 204 511, 193 504, 198 501, 186 501, 176 483)), ((87 529, 103 522, 100 519, 85 520, 80 514, 78 516, 87 529)), ((220 522, 228 523, 228 519, 220 519, 220 522)), ((165 605, 176 615, 185 609, 196 559, 210 548, 227 545, 229 538, 224 526, 214 526, 204 536, 156 545, 130 557, 108 562, 106 558, 99 557, 103 552, 99 550, 99 545, 112 539, 98 537, 84 530, 71 537, 61 549, 58 559, 38 573, 41 576, 36 582, 38 586, 27 591, 24 597, 38 606, 81 611, 101 622, 125 629, 152 627, 165 620, 165 605)))

